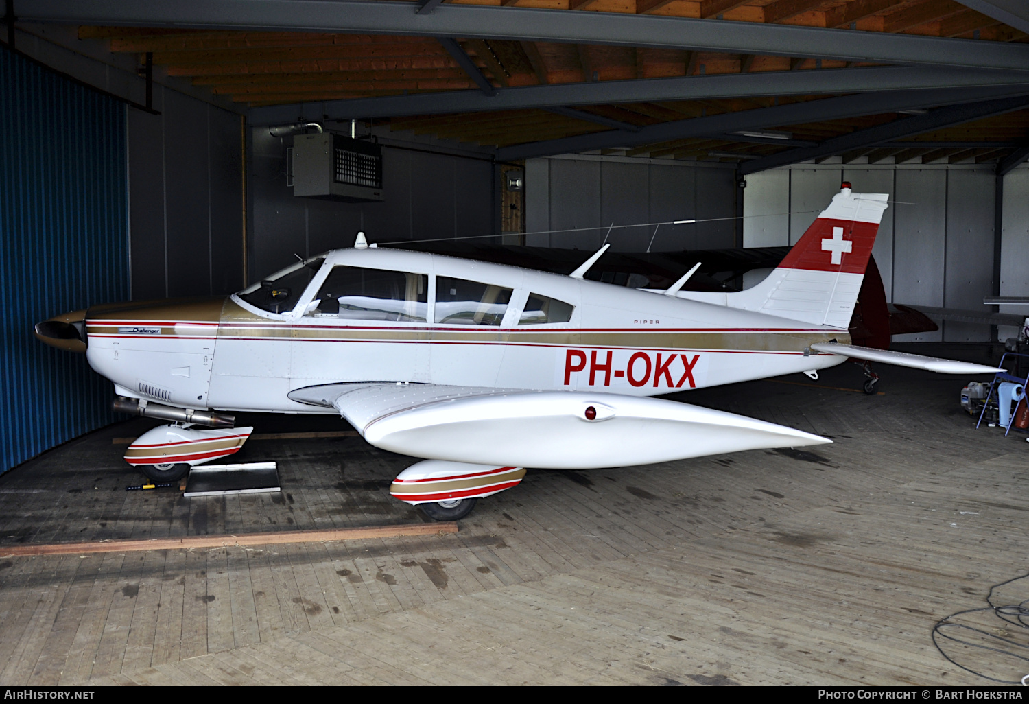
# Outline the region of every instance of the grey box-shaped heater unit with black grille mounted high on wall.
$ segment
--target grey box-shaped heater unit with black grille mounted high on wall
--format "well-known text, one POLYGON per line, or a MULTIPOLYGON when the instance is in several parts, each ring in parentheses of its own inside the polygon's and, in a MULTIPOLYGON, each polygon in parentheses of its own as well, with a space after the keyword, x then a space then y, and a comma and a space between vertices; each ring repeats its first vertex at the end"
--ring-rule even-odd
POLYGON ((378 144, 331 132, 296 135, 292 167, 293 196, 344 203, 385 200, 378 144))

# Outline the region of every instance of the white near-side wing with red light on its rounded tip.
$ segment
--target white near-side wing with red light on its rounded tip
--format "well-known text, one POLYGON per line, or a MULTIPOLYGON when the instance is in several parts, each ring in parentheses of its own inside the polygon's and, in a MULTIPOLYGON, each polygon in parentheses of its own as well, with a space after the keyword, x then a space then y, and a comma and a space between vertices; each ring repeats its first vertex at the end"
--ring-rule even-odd
POLYGON ((831 442, 721 411, 610 393, 355 383, 309 386, 289 397, 335 408, 378 448, 472 464, 590 469, 831 442))

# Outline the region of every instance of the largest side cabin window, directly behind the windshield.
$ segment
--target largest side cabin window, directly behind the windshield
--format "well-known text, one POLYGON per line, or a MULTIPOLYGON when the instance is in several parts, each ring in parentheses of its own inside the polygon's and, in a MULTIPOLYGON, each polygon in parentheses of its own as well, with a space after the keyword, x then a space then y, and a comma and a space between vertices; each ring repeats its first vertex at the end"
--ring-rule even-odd
POLYGON ((344 320, 426 322, 429 277, 360 267, 333 267, 315 296, 313 316, 344 320))

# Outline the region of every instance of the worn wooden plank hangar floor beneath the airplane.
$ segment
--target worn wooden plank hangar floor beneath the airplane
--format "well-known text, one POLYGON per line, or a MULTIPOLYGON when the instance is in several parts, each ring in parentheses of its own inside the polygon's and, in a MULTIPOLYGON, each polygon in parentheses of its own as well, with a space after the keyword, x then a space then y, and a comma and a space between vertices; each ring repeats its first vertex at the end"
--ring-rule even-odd
MULTIPOLYGON (((4 559, 0 681, 988 683, 930 630, 1026 571, 1029 447, 974 429, 965 379, 878 371, 875 397, 827 388, 852 364, 683 394, 833 445, 530 471, 456 535, 4 559)), ((0 544, 423 520, 387 493, 410 460, 360 437, 251 441, 281 494, 126 492, 112 438, 146 425, 0 477, 0 544)))

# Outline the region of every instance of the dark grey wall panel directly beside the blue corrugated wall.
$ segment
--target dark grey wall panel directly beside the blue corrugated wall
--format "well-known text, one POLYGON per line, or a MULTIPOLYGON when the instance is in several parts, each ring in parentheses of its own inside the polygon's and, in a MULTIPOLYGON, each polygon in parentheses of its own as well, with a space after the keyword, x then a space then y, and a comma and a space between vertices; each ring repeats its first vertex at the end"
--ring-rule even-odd
MULTIPOLYGON (((164 91, 154 86, 153 102, 161 109, 164 91)), ((168 295, 165 278, 165 152, 164 120, 142 110, 130 110, 129 224, 132 251, 132 297, 136 301, 168 295)))

